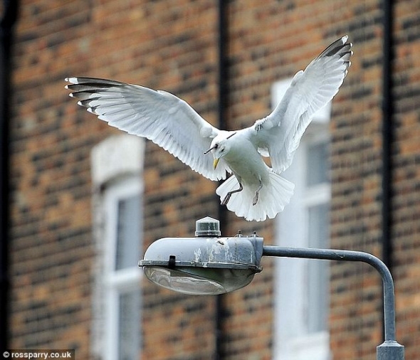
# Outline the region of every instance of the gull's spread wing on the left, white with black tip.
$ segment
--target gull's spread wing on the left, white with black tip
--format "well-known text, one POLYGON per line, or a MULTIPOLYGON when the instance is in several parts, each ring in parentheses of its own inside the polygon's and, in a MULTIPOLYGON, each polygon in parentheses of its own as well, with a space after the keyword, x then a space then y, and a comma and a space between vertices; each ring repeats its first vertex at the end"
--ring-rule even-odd
POLYGON ((66 78, 71 97, 100 120, 129 134, 146 137, 211 180, 226 178, 226 164, 213 168, 204 155, 219 129, 187 102, 165 91, 98 78, 66 78))

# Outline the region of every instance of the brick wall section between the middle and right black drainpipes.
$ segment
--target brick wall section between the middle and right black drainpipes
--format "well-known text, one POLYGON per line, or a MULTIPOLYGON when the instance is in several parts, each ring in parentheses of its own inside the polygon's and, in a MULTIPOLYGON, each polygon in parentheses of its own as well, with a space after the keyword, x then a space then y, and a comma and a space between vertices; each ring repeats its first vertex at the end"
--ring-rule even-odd
MULTIPOLYGON (((305 68, 335 38, 347 33, 355 43, 352 68, 332 107, 331 246, 379 255, 381 68, 378 62, 371 61, 372 68, 368 70, 361 64, 381 55, 379 4, 376 1, 352 4, 343 1, 316 1, 316 4, 312 1, 234 1, 230 9, 229 118, 233 119, 232 128, 249 125, 268 114, 273 82, 305 68), (362 221, 368 228, 361 225, 362 221)), ((231 221, 239 223, 233 216, 231 221)), ((273 226, 273 221, 268 221, 259 230, 264 232, 266 243, 274 241, 273 226)), ((268 259, 263 261, 265 270, 258 278, 261 282, 254 280, 256 287, 230 297, 241 297, 241 302, 253 297, 262 309, 271 307, 272 263, 268 259)), ((364 265, 332 264, 331 267, 333 354, 337 359, 363 359, 364 355, 367 356, 364 359, 368 359, 374 354, 375 344, 381 343, 379 277, 364 265), (358 339, 362 339, 362 346, 356 343, 358 339)), ((226 303, 232 311, 229 314, 236 313, 233 317, 242 324, 238 329, 246 328, 246 319, 235 312, 238 301, 226 303)), ((272 316, 263 315, 263 319, 271 334, 272 316)), ((263 332, 261 324, 259 326, 263 332)), ((231 339, 226 346, 232 346, 231 339)))

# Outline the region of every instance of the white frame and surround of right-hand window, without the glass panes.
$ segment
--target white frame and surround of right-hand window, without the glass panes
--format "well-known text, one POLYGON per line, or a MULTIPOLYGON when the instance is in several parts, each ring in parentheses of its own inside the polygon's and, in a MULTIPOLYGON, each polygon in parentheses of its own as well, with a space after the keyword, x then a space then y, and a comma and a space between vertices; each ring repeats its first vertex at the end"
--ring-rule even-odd
MULTIPOLYGON (((272 103, 277 105, 290 85, 291 78, 273 84, 272 103)), ((330 203, 330 183, 306 185, 306 153, 311 144, 329 141, 328 125, 331 104, 319 110, 303 135, 293 163, 283 176, 295 184, 295 193, 283 213, 276 220, 276 241, 280 246, 308 247, 308 208, 330 203)), ((328 360, 330 334, 328 331, 308 333, 309 290, 307 286, 308 261, 281 258, 275 260, 275 360, 328 360)), ((329 294, 326 294, 329 299, 329 294)), ((329 309, 329 304, 325 304, 329 309)))

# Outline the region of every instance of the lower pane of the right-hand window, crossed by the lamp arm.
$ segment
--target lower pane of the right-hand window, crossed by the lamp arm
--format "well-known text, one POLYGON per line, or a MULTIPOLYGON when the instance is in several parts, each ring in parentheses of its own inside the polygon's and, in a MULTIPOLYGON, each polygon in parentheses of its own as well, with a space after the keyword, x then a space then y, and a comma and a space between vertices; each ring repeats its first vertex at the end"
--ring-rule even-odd
MULTIPOLYGON (((322 203, 308 208, 308 241, 310 248, 327 248, 329 243, 329 206, 322 203)), ((308 261, 308 332, 327 330, 329 308, 329 263, 308 261)))

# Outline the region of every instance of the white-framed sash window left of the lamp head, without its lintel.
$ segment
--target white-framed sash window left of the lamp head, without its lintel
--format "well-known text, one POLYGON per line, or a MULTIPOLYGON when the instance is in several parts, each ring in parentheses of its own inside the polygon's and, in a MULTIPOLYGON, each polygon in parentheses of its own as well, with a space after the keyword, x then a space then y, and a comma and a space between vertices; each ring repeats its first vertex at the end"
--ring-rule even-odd
POLYGON ((142 196, 133 176, 105 190, 105 359, 138 359, 140 349, 140 259, 142 196), (116 334, 115 334, 116 331, 116 334))

